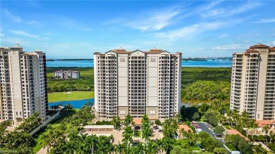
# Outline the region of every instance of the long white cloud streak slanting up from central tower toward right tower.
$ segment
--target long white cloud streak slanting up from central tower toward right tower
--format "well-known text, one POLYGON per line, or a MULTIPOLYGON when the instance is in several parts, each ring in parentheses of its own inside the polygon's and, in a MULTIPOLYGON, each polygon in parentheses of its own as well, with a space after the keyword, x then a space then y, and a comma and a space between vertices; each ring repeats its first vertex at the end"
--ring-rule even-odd
POLYGON ((155 34, 156 37, 163 37, 168 39, 186 38, 190 39, 197 34, 207 32, 211 30, 219 30, 225 27, 231 27, 240 23, 242 20, 230 20, 230 21, 214 21, 209 23, 198 23, 188 27, 183 27, 178 30, 171 30, 169 32, 159 32, 155 34))

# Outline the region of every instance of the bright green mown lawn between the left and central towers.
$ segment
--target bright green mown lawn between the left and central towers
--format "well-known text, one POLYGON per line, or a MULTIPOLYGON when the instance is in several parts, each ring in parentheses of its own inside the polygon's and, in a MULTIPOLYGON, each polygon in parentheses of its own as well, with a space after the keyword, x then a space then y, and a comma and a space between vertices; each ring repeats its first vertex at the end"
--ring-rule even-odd
POLYGON ((49 102, 73 101, 94 98, 94 91, 71 91, 71 94, 63 92, 48 94, 49 102))

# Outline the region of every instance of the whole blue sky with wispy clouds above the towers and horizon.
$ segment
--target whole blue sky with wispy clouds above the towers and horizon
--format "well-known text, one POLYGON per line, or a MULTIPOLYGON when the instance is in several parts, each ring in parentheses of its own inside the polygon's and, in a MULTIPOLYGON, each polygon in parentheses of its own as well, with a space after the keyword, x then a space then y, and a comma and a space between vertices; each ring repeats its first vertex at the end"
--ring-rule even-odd
POLYGON ((1 46, 92 58, 120 46, 183 57, 275 46, 275 1, 0 1, 1 46))

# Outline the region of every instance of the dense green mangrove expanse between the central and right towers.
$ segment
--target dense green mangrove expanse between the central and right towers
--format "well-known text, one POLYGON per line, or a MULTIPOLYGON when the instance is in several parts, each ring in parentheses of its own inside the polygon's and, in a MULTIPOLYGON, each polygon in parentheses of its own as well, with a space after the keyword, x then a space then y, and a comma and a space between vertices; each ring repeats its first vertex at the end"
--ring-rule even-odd
POLYGON ((182 68, 181 100, 208 103, 214 99, 228 102, 231 68, 182 68))

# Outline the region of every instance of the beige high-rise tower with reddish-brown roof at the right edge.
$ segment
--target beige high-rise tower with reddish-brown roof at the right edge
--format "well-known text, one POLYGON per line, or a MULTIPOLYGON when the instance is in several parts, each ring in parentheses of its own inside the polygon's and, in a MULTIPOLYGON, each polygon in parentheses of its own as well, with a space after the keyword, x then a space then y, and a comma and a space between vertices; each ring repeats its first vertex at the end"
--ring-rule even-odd
POLYGON ((250 46, 233 53, 231 110, 247 111, 255 120, 275 120, 275 47, 250 46))

